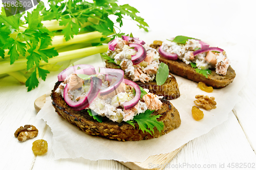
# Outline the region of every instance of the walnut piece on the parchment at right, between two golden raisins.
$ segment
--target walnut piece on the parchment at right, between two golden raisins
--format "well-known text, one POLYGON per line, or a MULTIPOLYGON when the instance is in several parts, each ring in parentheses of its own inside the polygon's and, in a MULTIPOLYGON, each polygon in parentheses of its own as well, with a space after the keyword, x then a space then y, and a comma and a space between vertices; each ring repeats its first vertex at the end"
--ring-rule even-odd
POLYGON ((215 109, 216 108, 216 101, 214 97, 210 97, 208 95, 196 95, 196 99, 194 103, 197 106, 202 106, 206 110, 215 109))

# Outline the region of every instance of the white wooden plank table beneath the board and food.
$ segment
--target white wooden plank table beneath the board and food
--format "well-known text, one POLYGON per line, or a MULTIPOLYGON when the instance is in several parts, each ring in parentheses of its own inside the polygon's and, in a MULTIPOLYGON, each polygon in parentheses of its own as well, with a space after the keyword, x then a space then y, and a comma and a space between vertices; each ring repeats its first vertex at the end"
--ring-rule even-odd
MULTIPOLYGON (((124 4, 125 1, 120 3, 124 4)), ((209 133, 189 141, 180 153, 166 164, 165 169, 256 169, 255 3, 145 0, 129 1, 129 4, 141 12, 140 16, 150 24, 152 31, 166 31, 168 27, 169 32, 174 33, 166 33, 167 36, 208 35, 222 37, 230 43, 243 41, 248 45, 250 52, 250 56, 243 56, 241 53, 241 60, 249 58, 249 71, 244 73, 247 79, 239 92, 241 101, 229 113, 228 120, 209 133), (254 168, 248 168, 253 163, 254 168), (234 168, 231 168, 232 166, 234 168), (244 168, 245 166, 247 168, 244 168)), ((126 26, 122 31, 130 33, 131 28, 126 26)), ((147 35, 141 30, 134 32, 137 33, 135 36, 139 36, 139 33, 144 37, 147 35)), ((46 82, 41 81, 39 86, 30 92, 27 92, 25 85, 21 85, 12 77, 0 79, 0 169, 127 169, 114 160, 54 160, 51 129, 43 120, 35 118, 34 101, 52 88, 48 84, 56 80, 57 74, 58 72, 52 72, 46 82), (33 139, 19 142, 14 137, 16 129, 27 124, 36 126, 40 131, 36 139, 44 138, 48 141, 47 154, 35 156, 31 151, 33 139)))

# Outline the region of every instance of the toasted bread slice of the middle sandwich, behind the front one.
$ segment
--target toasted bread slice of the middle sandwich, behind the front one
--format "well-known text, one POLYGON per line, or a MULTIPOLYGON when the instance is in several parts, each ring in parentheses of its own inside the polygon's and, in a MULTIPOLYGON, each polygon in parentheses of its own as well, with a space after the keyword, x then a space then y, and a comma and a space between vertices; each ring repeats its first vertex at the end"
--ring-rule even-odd
MULTIPOLYGON (((115 63, 109 63, 108 61, 105 61, 105 63, 106 63, 106 68, 117 68, 117 69, 119 68, 119 65, 115 63)), ((132 81, 132 79, 127 74, 124 74, 124 79, 128 79, 132 81)), ((178 83, 174 75, 172 75, 171 73, 169 73, 169 76, 166 79, 165 83, 162 84, 161 86, 157 85, 156 80, 148 83, 147 82, 142 83, 140 81, 137 81, 135 83, 137 83, 142 88, 146 88, 150 90, 151 93, 157 94, 159 96, 164 96, 165 100, 177 99, 180 96, 178 83)))

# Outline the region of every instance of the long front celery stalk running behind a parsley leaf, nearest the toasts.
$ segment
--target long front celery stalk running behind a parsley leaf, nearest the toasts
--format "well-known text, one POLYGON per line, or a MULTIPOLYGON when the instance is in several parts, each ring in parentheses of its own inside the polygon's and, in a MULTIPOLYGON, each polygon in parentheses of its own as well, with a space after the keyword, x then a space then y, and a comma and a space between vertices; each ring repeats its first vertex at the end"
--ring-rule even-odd
MULTIPOLYGON (((52 64, 60 61, 72 60, 81 57, 87 57, 98 53, 105 53, 108 51, 108 45, 92 46, 86 48, 80 48, 77 50, 71 50, 67 52, 61 52, 58 56, 50 58, 48 63, 45 61, 40 61, 39 65, 52 64)), ((18 59, 12 65, 10 61, 1 61, 0 75, 7 74, 9 72, 14 72, 18 70, 23 70, 27 68, 27 59, 18 59)))

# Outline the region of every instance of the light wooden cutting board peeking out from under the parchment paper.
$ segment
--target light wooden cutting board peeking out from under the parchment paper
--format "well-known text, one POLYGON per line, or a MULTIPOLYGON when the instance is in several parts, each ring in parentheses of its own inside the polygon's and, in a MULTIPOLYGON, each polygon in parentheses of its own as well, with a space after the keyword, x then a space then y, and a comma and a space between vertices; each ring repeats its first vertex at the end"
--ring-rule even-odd
MULTIPOLYGON (((37 112, 39 112, 39 110, 41 110, 41 108, 45 105, 46 103, 46 94, 40 96, 39 98, 37 98, 35 100, 34 103, 34 107, 35 110, 37 112)), ((185 145, 185 144, 184 144, 185 145)), ((180 148, 178 148, 177 150, 167 153, 167 154, 160 154, 160 155, 154 155, 154 156, 150 156, 148 157, 144 162, 120 162, 121 164, 123 164, 124 166, 129 167, 130 169, 136 169, 136 170, 145 170, 145 169, 158 169, 161 170, 164 168, 164 166, 170 161, 172 160, 175 155, 177 155, 180 150, 184 147, 184 145, 182 145, 180 148)))

